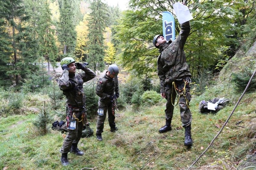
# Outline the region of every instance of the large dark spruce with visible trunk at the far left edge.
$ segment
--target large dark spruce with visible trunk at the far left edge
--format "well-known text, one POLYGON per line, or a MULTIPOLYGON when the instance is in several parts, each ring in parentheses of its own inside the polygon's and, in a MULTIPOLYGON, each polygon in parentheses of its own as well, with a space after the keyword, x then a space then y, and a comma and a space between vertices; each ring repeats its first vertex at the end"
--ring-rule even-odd
POLYGON ((37 59, 37 42, 31 26, 28 25, 30 17, 22 4, 22 0, 1 1, 1 9, 4 9, 2 17, 5 19, 6 28, 9 29, 8 38, 12 41, 12 70, 6 71, 6 74, 15 77, 16 85, 35 68, 32 63, 37 59))

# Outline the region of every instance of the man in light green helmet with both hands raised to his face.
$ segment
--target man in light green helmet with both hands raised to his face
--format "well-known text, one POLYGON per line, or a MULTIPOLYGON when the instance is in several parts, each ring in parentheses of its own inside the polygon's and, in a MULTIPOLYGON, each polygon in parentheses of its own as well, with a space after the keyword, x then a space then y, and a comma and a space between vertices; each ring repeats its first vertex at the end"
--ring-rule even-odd
POLYGON ((77 148, 86 116, 83 83, 94 78, 96 74, 84 64, 75 63, 75 60, 71 57, 63 58, 60 65, 63 72, 59 78, 59 87, 67 98, 66 114, 68 128, 68 134, 60 149, 62 153, 60 161, 63 166, 67 166, 69 165, 69 151, 76 155, 84 155, 84 152, 77 148), (76 74, 76 69, 81 69, 84 72, 76 74))

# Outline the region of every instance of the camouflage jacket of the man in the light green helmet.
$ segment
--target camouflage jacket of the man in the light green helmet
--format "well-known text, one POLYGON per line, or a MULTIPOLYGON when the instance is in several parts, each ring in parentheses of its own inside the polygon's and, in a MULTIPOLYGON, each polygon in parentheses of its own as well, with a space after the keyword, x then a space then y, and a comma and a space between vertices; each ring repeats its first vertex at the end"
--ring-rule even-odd
POLYGON ((59 87, 67 98, 67 104, 73 107, 82 107, 85 105, 85 95, 83 83, 96 77, 96 74, 87 67, 83 69, 84 73, 69 73, 63 70, 59 78, 59 87))

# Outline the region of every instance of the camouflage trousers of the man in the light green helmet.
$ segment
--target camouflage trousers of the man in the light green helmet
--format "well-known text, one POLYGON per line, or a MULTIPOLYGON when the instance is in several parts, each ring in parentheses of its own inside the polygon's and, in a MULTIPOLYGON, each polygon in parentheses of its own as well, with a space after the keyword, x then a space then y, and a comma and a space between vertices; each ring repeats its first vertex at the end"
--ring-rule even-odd
MULTIPOLYGON (((70 109, 70 107, 68 109, 70 109)), ((68 109, 67 109, 67 115, 69 114, 68 109)), ((81 116, 84 113, 84 109, 82 110, 74 109, 72 111, 72 114, 73 113, 76 115, 76 118, 81 120, 81 116)), ((76 121, 76 129, 74 130, 68 129, 68 134, 63 141, 62 148, 60 149, 61 153, 69 152, 72 144, 78 144, 82 136, 82 130, 83 130, 83 121, 81 122, 76 121)))

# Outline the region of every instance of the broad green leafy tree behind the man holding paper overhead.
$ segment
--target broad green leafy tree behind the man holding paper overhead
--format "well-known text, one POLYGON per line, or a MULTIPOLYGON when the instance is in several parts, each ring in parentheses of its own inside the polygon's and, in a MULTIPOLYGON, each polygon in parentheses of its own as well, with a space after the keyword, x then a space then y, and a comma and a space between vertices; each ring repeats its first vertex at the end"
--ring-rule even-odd
MULTIPOLYGON (((174 15, 173 1, 131 0, 132 11, 124 12, 120 24, 116 26, 116 37, 123 42, 121 61, 126 68, 136 69, 140 74, 156 71, 158 50, 152 40, 156 34, 162 34, 162 11, 174 15)), ((226 45, 224 30, 230 29, 237 10, 232 2, 225 1, 185 1, 193 14, 190 21, 191 31, 184 50, 188 63, 194 73, 204 68, 214 69, 215 63, 222 57, 221 48, 226 45), (202 57, 204 56, 204 57, 202 57)), ((174 15, 175 16, 175 15, 174 15)), ((175 17, 176 18, 176 17, 175 17)), ((175 21, 176 35, 180 32, 178 20, 175 21)))

